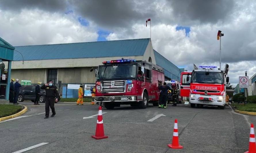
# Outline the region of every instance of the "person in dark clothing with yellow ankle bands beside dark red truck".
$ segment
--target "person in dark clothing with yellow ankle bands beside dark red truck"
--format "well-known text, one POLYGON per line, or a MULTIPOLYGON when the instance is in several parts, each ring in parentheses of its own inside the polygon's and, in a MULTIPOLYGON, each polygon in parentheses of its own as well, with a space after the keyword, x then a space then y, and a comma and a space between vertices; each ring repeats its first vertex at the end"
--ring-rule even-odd
POLYGON ((168 98, 168 90, 171 90, 169 86, 166 86, 166 82, 164 82, 163 86, 158 87, 160 90, 160 99, 158 108, 167 108, 167 98, 168 98))

